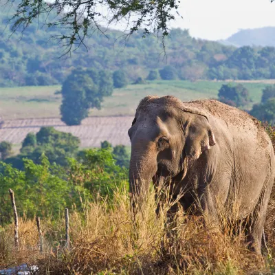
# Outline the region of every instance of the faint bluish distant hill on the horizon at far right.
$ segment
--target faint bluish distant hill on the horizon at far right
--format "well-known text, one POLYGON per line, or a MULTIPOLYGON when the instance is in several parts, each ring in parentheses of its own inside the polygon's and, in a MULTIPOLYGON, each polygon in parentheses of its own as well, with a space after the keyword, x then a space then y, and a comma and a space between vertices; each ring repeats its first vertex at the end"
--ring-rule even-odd
POLYGON ((228 39, 220 41, 224 45, 242 46, 272 46, 275 47, 275 27, 239 30, 228 39))

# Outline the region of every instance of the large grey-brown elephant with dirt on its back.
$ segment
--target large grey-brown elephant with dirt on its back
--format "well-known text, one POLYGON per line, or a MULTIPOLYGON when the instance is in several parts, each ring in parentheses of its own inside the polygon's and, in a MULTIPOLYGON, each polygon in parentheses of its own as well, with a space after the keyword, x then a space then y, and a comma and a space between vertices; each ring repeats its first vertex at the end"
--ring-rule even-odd
POLYGON ((261 122, 218 100, 146 96, 128 135, 132 202, 142 201, 153 181, 168 185, 173 198, 186 190, 179 199, 184 210, 199 206, 213 219, 218 204, 231 213, 237 203, 249 248, 261 254, 275 178, 274 148, 261 122))

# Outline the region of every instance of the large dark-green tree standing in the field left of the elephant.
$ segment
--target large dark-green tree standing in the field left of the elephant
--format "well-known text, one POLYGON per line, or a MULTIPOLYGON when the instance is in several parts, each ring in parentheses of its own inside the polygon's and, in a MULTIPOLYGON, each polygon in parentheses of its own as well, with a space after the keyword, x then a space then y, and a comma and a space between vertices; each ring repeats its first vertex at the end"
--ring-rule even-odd
POLYGON ((109 72, 96 69, 75 69, 65 80, 61 94, 61 120, 79 125, 90 108, 101 108, 104 96, 111 96, 113 83, 109 72))

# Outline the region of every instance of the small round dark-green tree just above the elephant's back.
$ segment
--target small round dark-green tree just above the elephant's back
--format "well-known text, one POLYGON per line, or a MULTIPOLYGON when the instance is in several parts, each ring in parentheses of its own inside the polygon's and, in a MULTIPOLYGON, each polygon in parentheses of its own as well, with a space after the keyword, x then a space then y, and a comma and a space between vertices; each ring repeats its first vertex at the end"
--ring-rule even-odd
POLYGON ((250 102, 248 89, 241 84, 223 84, 219 89, 218 98, 221 102, 235 107, 243 107, 250 102))

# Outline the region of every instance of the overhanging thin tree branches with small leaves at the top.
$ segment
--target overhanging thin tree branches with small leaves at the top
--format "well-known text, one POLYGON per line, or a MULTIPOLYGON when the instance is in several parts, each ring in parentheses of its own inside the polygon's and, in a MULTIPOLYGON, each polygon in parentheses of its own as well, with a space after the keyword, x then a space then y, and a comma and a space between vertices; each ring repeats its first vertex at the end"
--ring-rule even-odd
POLYGON ((12 1, 8 0, 14 7, 13 16, 10 20, 12 31, 25 30, 36 19, 45 21, 50 28, 62 28, 63 32, 59 39, 71 50, 72 45, 85 45, 85 37, 94 30, 102 33, 102 23, 110 25, 126 19, 129 34, 143 30, 144 35, 155 32, 168 35, 169 22, 175 19, 175 11, 178 8, 177 1, 12 1), (102 6, 109 12, 102 12, 102 6))

